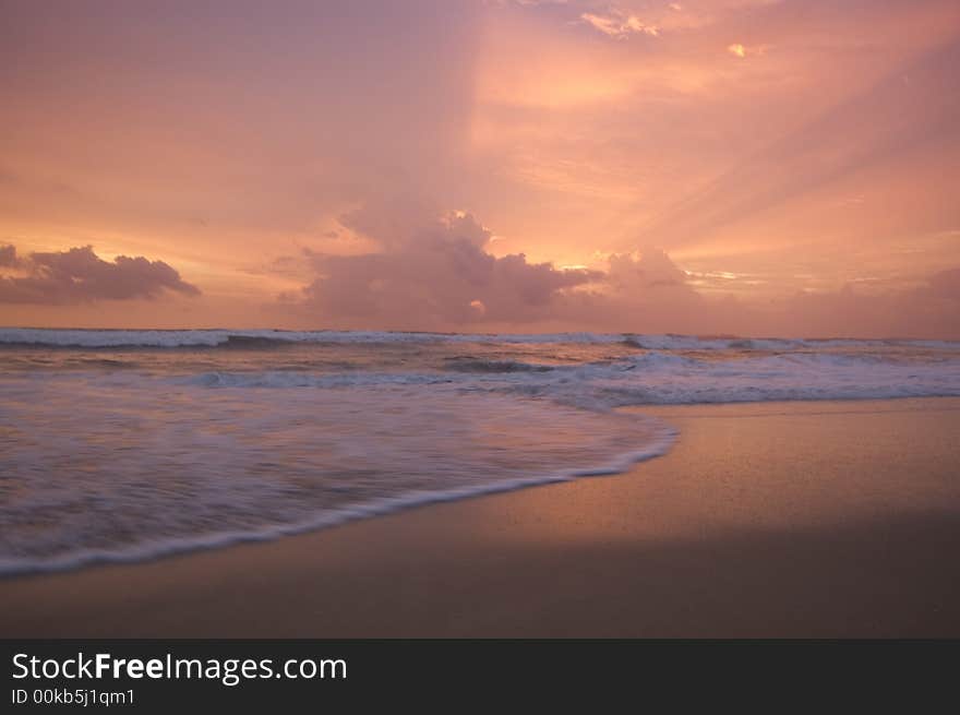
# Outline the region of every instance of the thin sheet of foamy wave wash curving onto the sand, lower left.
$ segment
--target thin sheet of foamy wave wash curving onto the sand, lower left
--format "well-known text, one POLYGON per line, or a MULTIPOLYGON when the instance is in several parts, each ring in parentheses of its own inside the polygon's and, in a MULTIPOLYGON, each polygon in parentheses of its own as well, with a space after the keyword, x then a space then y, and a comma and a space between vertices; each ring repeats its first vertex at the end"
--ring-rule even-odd
POLYGON ((0 507, 0 574, 141 561, 617 474, 665 453, 676 437, 638 415, 409 386, 284 400, 132 389, 115 400, 137 418, 104 421, 98 386, 79 401, 84 410, 62 410, 52 398, 62 385, 52 382, 9 416, 14 432, 46 432, 0 454, 14 486, 0 507))

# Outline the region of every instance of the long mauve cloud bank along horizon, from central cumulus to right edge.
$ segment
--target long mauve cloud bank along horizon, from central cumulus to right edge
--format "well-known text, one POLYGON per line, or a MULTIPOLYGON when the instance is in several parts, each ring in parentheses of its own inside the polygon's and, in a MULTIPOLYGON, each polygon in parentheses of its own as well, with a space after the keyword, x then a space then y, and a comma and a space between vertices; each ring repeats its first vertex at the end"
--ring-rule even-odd
POLYGON ((416 212, 364 206, 341 223, 380 250, 304 252, 315 277, 283 307, 314 326, 960 338, 960 269, 884 294, 848 285, 756 301, 700 293, 658 248, 561 270, 492 255, 491 231, 468 213, 418 223, 416 212))

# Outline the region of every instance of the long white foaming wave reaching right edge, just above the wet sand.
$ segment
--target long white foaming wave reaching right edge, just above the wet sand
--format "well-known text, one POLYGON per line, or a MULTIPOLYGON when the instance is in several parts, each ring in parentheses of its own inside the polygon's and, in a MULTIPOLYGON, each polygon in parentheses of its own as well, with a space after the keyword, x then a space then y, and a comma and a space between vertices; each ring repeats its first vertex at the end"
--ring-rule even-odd
MULTIPOLYGON (((629 405, 960 396, 960 361, 784 354, 712 360, 649 351, 609 362, 540 366, 455 359, 437 372, 205 372, 172 379, 206 388, 338 390, 431 386, 552 400, 604 412, 629 405)), ((124 379, 124 378, 118 378, 124 379)), ((135 380, 136 378, 125 378, 135 380)))

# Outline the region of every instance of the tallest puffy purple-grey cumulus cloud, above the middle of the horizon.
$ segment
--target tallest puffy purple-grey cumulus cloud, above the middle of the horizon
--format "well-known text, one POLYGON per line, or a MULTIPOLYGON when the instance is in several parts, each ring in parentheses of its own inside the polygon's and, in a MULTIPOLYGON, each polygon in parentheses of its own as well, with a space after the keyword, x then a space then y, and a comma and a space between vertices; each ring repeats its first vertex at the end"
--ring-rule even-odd
POLYGON ((382 247, 363 255, 312 255, 317 277, 303 303, 348 323, 442 329, 479 320, 530 322, 551 318, 567 289, 602 277, 529 263, 524 254, 496 258, 491 234, 470 214, 447 214, 411 228, 364 208, 341 218, 382 247))

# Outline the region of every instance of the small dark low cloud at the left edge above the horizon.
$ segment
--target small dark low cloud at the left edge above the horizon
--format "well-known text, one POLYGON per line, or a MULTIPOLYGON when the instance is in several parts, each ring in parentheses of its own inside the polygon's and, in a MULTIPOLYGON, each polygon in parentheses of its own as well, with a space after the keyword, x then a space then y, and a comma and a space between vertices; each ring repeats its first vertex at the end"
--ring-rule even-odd
POLYGON ((23 259, 13 246, 4 246, 0 248, 0 266, 17 272, 0 277, 0 302, 63 305, 156 298, 165 290, 200 295, 196 286, 163 261, 120 255, 110 263, 97 257, 91 246, 31 253, 23 259))

